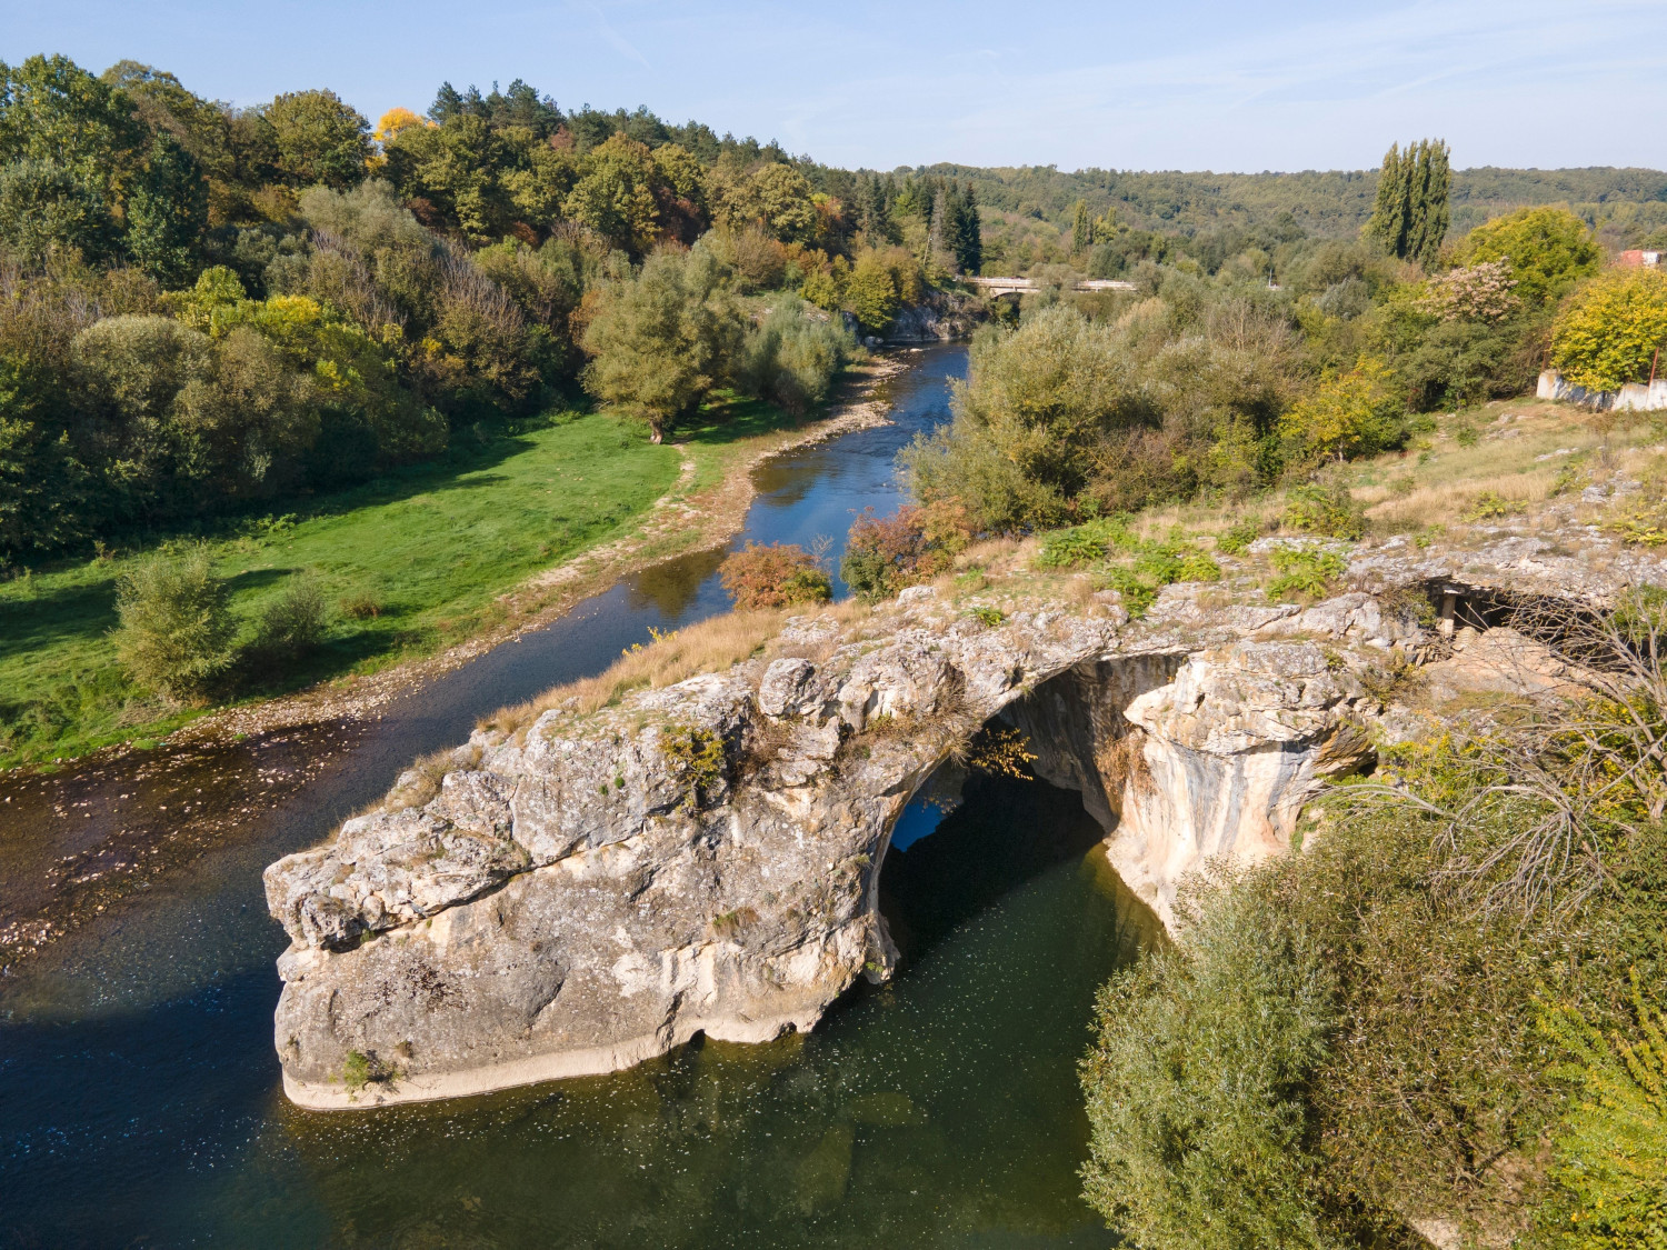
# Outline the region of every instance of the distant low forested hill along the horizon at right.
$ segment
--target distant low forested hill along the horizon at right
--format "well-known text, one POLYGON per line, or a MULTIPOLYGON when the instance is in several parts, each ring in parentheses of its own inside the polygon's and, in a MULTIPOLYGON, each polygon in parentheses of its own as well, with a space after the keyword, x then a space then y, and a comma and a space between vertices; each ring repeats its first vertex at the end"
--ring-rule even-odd
MULTIPOLYGON (((905 170, 900 170, 900 173, 905 170)), ((1065 222, 1072 205, 1090 212, 1115 207, 1119 220, 1142 230, 1187 233, 1227 225, 1259 225, 1290 213, 1314 235, 1352 235, 1372 213, 1377 170, 1304 170, 1300 173, 1124 173, 1052 165, 979 168, 929 165, 935 173, 969 182, 989 208, 1065 222)), ((1465 233, 1510 208, 1567 203, 1605 233, 1642 233, 1667 227, 1667 173, 1637 168, 1507 170, 1482 167, 1454 172, 1452 230, 1465 233)))

